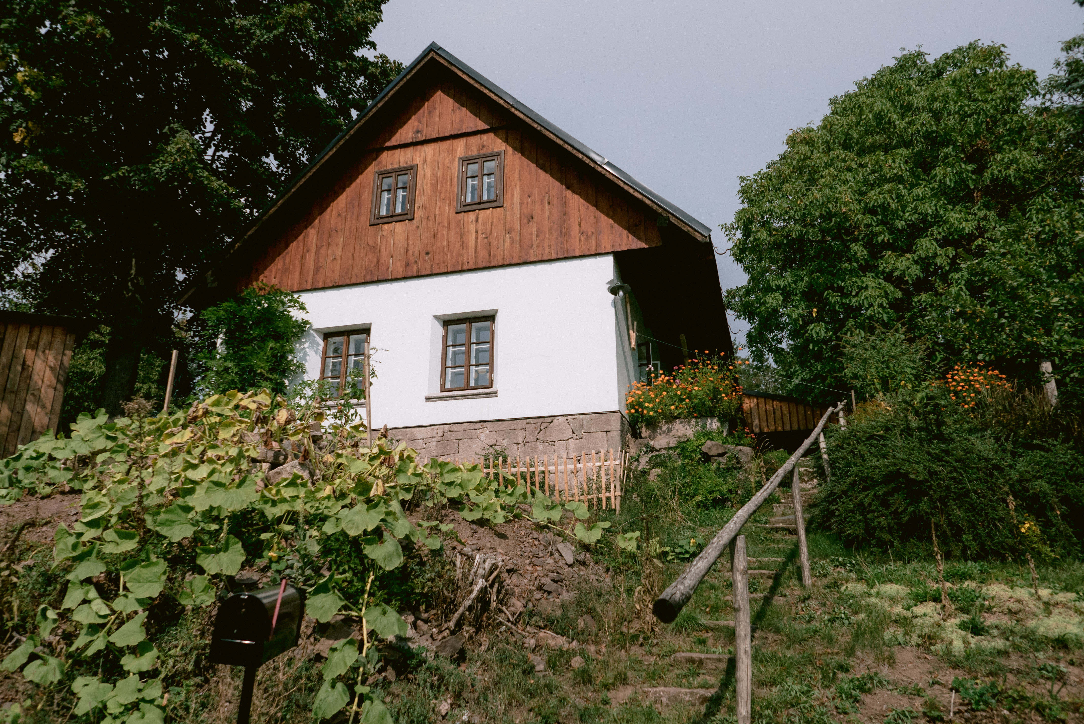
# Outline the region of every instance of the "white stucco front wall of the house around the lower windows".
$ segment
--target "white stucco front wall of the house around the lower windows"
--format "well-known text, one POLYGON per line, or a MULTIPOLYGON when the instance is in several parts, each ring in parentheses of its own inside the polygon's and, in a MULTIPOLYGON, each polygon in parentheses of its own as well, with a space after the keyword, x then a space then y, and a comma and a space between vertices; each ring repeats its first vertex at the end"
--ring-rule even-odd
POLYGON ((325 333, 370 327, 374 426, 623 409, 628 335, 615 333, 624 327, 607 291, 615 275, 601 254, 300 292, 306 378, 319 377, 325 333), (443 321, 490 314, 496 396, 427 400, 440 395, 443 321))

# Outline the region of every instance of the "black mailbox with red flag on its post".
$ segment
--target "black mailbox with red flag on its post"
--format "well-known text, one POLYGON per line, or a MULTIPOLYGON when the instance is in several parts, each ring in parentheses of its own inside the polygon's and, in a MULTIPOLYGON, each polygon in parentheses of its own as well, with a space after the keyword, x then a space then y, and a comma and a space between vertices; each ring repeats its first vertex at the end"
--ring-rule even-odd
POLYGON ((305 593, 282 579, 281 585, 234 593, 222 602, 215 617, 210 662, 245 667, 237 724, 248 724, 256 670, 297 646, 305 614, 305 593))

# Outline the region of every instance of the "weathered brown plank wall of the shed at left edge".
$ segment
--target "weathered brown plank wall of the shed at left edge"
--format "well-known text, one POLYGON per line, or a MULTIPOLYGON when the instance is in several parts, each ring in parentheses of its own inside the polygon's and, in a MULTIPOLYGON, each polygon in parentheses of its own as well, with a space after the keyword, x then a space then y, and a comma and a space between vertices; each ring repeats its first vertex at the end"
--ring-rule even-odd
POLYGON ((76 333, 63 326, 0 324, 0 456, 56 430, 76 333))

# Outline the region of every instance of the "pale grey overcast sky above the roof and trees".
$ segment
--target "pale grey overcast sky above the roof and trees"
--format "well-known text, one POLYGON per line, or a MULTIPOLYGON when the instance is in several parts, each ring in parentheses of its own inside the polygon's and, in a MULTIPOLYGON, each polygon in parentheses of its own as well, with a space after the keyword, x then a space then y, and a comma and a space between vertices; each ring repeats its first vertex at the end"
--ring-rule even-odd
MULTIPOLYGON (((715 228, 720 251, 738 176, 901 48, 999 42, 1043 77, 1061 41, 1084 31, 1071 0, 391 0, 384 18, 380 52, 410 63, 437 41, 715 228)), ((724 289, 744 281, 717 259, 724 289)))

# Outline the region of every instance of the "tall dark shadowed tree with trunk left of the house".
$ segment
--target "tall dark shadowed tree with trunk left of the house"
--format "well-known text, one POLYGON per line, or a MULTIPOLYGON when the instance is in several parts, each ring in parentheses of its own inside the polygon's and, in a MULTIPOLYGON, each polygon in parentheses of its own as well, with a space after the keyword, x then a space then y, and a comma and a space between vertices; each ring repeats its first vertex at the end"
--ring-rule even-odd
POLYGON ((109 328, 118 413, 175 300, 401 65, 386 0, 13 0, 0 9, 0 278, 109 328))

